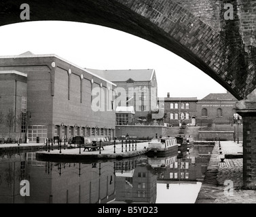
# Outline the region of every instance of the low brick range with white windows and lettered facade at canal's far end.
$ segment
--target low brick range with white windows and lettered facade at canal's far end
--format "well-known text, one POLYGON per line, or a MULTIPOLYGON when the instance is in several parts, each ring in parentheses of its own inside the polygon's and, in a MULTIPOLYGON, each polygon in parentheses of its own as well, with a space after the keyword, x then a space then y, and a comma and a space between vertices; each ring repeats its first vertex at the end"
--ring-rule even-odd
POLYGON ((194 98, 173 98, 170 94, 159 102, 166 112, 164 122, 169 126, 208 124, 232 124, 236 113, 236 98, 229 92, 208 94, 198 100, 194 98))

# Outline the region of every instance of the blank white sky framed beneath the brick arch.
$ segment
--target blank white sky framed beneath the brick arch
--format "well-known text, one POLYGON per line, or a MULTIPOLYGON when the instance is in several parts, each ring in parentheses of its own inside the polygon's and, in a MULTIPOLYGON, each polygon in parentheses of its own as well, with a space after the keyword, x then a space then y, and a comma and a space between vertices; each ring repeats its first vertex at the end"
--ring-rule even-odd
POLYGON ((198 97, 225 88, 168 50, 112 28, 79 22, 22 22, 0 27, 0 56, 56 54, 84 68, 154 68, 158 96, 198 97))

